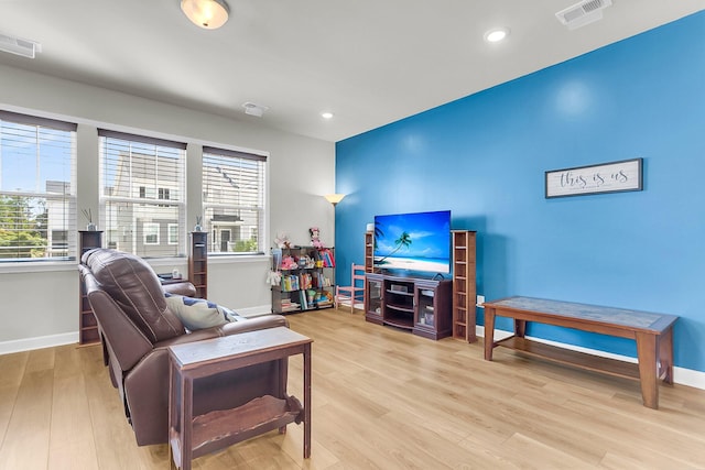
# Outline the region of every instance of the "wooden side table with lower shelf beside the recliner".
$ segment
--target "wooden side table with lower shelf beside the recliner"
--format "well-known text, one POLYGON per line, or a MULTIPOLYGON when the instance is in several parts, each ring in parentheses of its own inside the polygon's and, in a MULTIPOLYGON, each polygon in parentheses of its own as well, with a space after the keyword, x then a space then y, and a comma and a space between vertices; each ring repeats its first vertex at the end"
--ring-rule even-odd
MULTIPOLYGON (((169 347, 170 460, 189 470, 193 459, 290 423, 304 424, 304 458, 311 457, 311 343, 313 340, 285 327, 248 331, 169 347), (304 405, 265 395, 234 409, 193 416, 194 380, 268 361, 303 354, 304 405), (182 400, 178 400, 182 397, 182 400)), ((237 384, 234 384, 237 386, 237 384)), ((282 385, 285 395, 286 384, 282 385)))

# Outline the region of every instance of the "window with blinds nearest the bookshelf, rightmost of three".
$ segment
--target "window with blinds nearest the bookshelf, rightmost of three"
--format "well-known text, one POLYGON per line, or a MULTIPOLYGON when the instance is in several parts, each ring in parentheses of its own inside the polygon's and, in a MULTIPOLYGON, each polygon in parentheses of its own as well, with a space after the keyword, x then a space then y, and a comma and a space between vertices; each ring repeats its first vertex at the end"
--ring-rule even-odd
POLYGON ((263 253, 264 168, 267 157, 203 149, 204 229, 208 253, 263 253))

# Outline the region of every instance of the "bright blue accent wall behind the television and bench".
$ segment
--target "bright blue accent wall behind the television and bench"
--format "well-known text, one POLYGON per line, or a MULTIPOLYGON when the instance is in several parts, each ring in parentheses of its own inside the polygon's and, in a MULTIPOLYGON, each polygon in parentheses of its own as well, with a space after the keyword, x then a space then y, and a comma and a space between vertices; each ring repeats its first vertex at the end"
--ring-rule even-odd
MULTIPOLYGON (((704 32, 701 11, 338 142, 337 282, 375 215, 451 209, 478 232, 478 294, 677 315, 675 365, 705 371, 704 32), (636 157, 641 192, 544 197, 545 171, 636 157)), ((529 335, 636 357, 631 340, 529 335)))

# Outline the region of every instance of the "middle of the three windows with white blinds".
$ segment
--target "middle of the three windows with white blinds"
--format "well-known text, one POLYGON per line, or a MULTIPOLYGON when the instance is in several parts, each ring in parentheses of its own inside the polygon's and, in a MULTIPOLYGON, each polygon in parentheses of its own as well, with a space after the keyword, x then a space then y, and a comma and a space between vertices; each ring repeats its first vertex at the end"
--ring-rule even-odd
POLYGON ((143 258, 182 255, 186 144, 105 129, 98 134, 106 244, 143 258))

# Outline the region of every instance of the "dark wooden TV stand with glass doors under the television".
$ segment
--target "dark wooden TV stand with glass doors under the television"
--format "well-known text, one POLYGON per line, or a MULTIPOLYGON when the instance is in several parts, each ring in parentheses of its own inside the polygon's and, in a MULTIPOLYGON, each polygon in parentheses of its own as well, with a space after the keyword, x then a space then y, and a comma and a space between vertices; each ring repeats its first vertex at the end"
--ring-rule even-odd
POLYGON ((430 339, 453 334, 451 280, 365 275, 365 319, 430 339))

